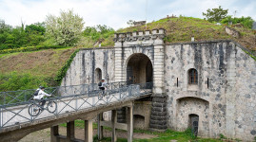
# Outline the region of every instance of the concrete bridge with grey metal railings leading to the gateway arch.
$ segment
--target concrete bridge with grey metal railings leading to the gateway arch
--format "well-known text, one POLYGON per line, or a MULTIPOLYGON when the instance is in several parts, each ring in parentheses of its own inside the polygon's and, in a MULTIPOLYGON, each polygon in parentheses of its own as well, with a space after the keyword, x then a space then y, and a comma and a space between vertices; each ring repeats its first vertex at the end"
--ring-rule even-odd
POLYGON ((18 141, 29 133, 50 128, 50 140, 86 141, 93 140, 92 118, 97 116, 98 139, 103 138, 103 126, 112 128, 112 141, 116 141, 116 129, 128 131, 128 141, 133 134, 133 102, 147 98, 152 93, 152 82, 128 84, 127 81, 108 83, 106 97, 99 98, 101 90, 97 84, 81 84, 46 88, 52 95, 46 98, 56 102, 56 111, 42 111, 30 115, 29 107, 34 89, 0 93, 0 141, 18 141), (116 109, 128 107, 127 123, 117 123, 116 109), (103 112, 111 111, 111 120, 103 121, 103 112), (74 137, 74 120, 85 120, 85 139, 74 137), (67 123, 68 122, 68 123, 67 123), (67 123, 67 135, 58 133, 58 125, 67 123))

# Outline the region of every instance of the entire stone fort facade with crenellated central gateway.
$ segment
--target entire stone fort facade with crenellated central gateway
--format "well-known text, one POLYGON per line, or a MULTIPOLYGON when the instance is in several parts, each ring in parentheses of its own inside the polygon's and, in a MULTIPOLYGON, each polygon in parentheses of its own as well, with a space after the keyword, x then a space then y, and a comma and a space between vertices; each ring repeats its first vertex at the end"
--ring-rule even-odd
MULTIPOLYGON (((256 136, 256 62, 233 41, 165 44, 166 30, 116 33, 114 47, 81 49, 62 85, 153 82, 134 101, 134 127, 252 141, 256 136)), ((110 112, 104 118, 108 119, 110 112)), ((126 121, 127 109, 117 111, 126 121)))

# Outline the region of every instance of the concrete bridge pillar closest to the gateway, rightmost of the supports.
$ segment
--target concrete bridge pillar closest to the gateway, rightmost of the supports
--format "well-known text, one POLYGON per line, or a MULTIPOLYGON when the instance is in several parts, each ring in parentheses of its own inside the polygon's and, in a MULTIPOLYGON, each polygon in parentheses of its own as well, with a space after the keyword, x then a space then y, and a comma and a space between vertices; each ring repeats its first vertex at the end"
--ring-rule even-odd
POLYGON ((132 142, 133 137, 133 106, 128 107, 128 142, 132 142))

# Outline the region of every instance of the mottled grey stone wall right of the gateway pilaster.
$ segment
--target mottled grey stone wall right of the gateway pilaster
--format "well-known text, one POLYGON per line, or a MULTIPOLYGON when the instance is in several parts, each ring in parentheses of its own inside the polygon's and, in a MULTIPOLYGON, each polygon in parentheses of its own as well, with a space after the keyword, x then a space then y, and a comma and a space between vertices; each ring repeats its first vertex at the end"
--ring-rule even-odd
POLYGON ((230 41, 169 44, 165 70, 169 128, 184 130, 188 115, 195 114, 201 136, 223 133, 252 140, 256 134, 256 62, 240 47, 230 41), (188 84, 190 68, 198 72, 197 85, 188 84), (202 109, 206 103, 207 110, 202 109))

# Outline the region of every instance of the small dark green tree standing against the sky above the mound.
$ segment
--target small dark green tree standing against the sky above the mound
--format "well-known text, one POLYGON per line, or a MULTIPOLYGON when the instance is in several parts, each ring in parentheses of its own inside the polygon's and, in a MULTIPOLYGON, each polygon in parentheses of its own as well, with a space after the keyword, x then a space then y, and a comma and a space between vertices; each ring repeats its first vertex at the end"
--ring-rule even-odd
POLYGON ((221 22, 222 19, 226 18, 228 9, 222 9, 219 6, 218 9, 207 9, 207 13, 203 12, 203 16, 207 17, 209 22, 221 22))

